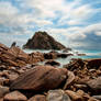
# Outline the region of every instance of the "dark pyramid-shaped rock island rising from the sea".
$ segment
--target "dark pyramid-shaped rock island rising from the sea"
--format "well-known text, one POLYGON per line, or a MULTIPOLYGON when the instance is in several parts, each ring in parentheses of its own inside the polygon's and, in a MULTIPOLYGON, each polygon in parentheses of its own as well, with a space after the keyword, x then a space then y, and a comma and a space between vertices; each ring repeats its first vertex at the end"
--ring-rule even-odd
POLYGON ((35 35, 27 41, 23 48, 29 49, 65 49, 66 47, 55 41, 46 32, 36 32, 35 35))

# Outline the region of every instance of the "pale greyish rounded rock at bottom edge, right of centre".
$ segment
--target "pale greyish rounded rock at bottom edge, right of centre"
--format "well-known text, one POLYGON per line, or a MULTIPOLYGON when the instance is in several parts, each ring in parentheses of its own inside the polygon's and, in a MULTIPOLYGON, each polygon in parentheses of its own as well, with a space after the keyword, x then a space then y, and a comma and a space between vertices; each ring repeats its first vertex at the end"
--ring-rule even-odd
POLYGON ((64 90, 49 90, 47 92, 46 101, 71 101, 64 90))

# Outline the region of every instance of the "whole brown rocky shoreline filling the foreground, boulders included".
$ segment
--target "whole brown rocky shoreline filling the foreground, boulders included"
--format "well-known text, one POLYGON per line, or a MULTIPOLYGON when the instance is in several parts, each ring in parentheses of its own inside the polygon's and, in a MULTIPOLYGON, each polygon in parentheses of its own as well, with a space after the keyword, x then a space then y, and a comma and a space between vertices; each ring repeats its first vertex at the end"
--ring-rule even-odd
POLYGON ((101 101, 101 59, 72 59, 58 68, 54 59, 71 55, 26 54, 0 44, 0 101, 101 101))

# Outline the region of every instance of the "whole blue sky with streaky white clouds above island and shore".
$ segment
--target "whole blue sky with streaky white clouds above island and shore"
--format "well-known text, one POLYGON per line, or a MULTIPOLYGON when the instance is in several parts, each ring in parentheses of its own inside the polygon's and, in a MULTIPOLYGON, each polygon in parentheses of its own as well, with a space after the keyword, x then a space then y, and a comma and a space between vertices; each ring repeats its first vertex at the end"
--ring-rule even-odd
POLYGON ((0 0, 0 43, 22 46, 37 31, 71 48, 101 49, 101 0, 0 0))

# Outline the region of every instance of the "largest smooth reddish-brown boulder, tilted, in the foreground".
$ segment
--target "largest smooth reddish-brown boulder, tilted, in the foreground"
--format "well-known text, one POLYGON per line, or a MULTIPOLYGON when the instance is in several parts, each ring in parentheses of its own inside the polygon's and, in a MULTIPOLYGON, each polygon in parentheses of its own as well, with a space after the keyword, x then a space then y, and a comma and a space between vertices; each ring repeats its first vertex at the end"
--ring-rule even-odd
POLYGON ((33 92, 58 88, 67 78, 66 68, 36 66, 20 76, 11 85, 12 90, 31 90, 33 92))

